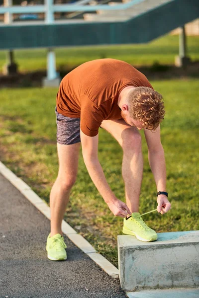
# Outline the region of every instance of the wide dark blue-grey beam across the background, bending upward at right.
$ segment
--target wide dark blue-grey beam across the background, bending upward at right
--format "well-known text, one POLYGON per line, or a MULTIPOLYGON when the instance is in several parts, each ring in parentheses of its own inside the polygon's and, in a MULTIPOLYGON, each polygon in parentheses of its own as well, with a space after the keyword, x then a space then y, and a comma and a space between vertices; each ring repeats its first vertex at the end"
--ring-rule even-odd
POLYGON ((0 26, 0 49, 146 43, 199 17, 199 0, 173 0, 125 22, 0 26))

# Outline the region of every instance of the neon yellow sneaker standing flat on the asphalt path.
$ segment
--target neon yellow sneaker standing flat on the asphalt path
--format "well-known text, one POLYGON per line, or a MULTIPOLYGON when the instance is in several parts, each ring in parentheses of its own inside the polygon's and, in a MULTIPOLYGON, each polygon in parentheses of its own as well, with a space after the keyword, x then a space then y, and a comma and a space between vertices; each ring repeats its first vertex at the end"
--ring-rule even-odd
POLYGON ((46 250, 48 252, 48 259, 52 261, 61 261, 67 259, 66 254, 66 244, 64 242, 64 237, 60 234, 56 234, 47 238, 46 250))

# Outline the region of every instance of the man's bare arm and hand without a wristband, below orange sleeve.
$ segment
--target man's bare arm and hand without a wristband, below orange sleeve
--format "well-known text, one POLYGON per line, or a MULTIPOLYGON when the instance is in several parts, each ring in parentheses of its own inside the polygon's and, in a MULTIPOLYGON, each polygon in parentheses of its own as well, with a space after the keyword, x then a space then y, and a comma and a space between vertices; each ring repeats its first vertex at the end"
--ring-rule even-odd
POLYGON ((80 132, 84 162, 100 195, 115 216, 125 217, 130 210, 125 203, 118 200, 111 191, 98 159, 98 135, 89 137, 80 132))

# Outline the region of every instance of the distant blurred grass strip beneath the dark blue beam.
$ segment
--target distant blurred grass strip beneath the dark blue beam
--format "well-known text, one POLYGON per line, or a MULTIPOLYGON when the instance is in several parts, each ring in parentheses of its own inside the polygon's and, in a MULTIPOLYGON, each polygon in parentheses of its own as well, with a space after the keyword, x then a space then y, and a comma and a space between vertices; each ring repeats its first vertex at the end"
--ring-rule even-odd
MULTIPOLYGON (((199 36, 188 36, 188 55, 193 61, 199 60, 199 36)), ((14 51, 19 71, 36 71, 46 69, 46 50, 14 51)), ((5 64, 6 52, 0 52, 0 69, 5 64)), ((166 35, 148 44, 90 46, 56 49, 57 68, 65 70, 80 65, 86 61, 99 58, 115 58, 132 65, 152 65, 155 61, 161 64, 174 64, 174 58, 179 54, 179 37, 166 35)))

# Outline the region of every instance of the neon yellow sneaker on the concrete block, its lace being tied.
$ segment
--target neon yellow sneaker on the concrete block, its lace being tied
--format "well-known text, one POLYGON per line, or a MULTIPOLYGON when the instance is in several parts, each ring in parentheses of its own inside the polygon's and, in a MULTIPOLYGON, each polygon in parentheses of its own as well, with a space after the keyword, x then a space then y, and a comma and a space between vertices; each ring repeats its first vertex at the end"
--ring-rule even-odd
POLYGON ((127 235, 136 236, 138 240, 144 242, 155 241, 158 239, 157 233, 144 223, 139 212, 133 212, 127 220, 124 218, 122 232, 127 235))

